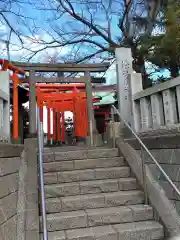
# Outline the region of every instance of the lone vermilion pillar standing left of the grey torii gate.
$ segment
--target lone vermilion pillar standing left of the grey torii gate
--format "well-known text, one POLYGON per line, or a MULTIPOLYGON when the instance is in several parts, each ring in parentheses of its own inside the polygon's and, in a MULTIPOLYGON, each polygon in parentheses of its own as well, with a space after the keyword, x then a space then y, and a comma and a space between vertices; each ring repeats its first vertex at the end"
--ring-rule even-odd
POLYGON ((19 116, 18 116, 18 75, 13 74, 13 139, 19 141, 19 116))

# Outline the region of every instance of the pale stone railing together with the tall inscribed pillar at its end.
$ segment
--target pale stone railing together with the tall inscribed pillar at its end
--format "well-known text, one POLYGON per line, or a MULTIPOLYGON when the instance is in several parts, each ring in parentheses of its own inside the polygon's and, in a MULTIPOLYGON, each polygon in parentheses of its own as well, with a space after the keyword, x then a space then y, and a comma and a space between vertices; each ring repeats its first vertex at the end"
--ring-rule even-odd
POLYGON ((131 49, 117 48, 117 98, 121 117, 136 132, 174 130, 180 126, 180 77, 143 90, 133 72, 131 49))

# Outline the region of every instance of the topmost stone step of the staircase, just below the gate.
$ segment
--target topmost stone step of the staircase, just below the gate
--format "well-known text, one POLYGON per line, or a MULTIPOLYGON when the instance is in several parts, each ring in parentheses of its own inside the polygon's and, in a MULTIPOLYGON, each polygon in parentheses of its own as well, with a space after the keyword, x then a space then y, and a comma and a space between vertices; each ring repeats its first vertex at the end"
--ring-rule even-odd
POLYGON ((119 151, 117 148, 111 149, 85 149, 80 151, 69 152, 44 152, 44 162, 67 161, 75 159, 89 159, 89 158, 107 158, 118 157, 119 151))

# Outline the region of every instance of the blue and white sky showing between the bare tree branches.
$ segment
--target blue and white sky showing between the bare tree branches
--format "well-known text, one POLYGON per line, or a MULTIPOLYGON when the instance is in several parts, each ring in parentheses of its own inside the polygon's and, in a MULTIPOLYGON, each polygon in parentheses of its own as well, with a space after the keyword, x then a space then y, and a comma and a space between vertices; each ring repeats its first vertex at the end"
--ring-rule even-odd
MULTIPOLYGON (((27 25, 31 28, 34 29, 35 26, 36 28, 34 29, 33 34, 35 35, 35 37, 37 37, 38 39, 42 40, 50 40, 52 39, 50 36, 48 36, 49 34, 53 34, 54 36, 56 35, 56 39, 58 39, 58 35, 52 30, 52 26, 56 29, 58 28, 65 28, 66 30, 78 30, 79 29, 83 29, 83 25, 80 23, 77 23, 75 21, 72 21, 72 19, 67 16, 67 14, 64 15, 64 17, 62 17, 59 20, 54 21, 54 14, 52 11, 44 11, 43 8, 43 4, 46 5, 48 0, 44 0, 44 1, 36 1, 36 0, 30 0, 31 4, 21 4, 21 11, 20 14, 23 14, 24 16, 27 16, 27 18, 25 19, 25 22, 27 23, 27 25), (33 21, 32 21, 33 19, 33 21), (35 24, 34 24, 35 23, 35 24)), ((19 8, 17 8, 15 5, 13 5, 13 10, 15 12, 19 11, 19 8)), ((79 7, 76 8, 77 11, 81 12, 81 9, 79 7)), ((117 11, 117 12, 122 12, 122 6, 120 4, 114 4, 114 6, 112 7, 113 11, 117 11)), ((105 27, 107 26, 107 20, 105 17, 105 14, 103 12, 103 9, 96 9, 96 11, 91 11, 91 13, 93 14, 93 20, 99 24, 101 27, 105 27)), ((85 10, 85 16, 88 18, 90 15, 87 12, 87 10, 85 10)), ((110 15, 108 15, 109 17, 110 15)), ((117 37, 121 37, 121 32, 117 26, 118 24, 118 17, 116 16, 116 14, 111 14, 112 19, 111 19, 111 34, 112 34, 112 39, 117 41, 117 37)), ((25 35, 31 37, 32 33, 29 31, 28 28, 23 27, 23 22, 20 21, 17 17, 15 17, 14 15, 8 15, 9 20, 13 23, 13 26, 18 29, 19 31, 22 31, 25 35)), ((3 36, 3 38, 5 37, 5 32, 7 31, 7 29, 1 29, 0 28, 0 37, 3 36)), ((34 36, 33 36, 34 37, 34 36)), ((77 36, 78 38, 79 36, 77 36)), ((5 37, 6 38, 6 37, 5 37)), ((96 41, 99 41, 100 43, 105 43, 104 40, 102 40, 102 38, 99 37, 93 37, 91 39, 94 39, 96 41)), ((17 38, 14 38, 14 41, 17 42, 17 38)), ((32 44, 29 40, 25 40, 27 43, 27 46, 31 47, 31 48, 37 48, 37 44, 32 44)), ((15 48, 15 47, 14 47, 15 48)), ((61 58, 68 55, 71 52, 71 47, 64 47, 63 49, 58 49, 58 51, 60 52, 60 61, 61 58)), ((83 55, 83 53, 85 52, 93 52, 95 51, 95 49, 92 46, 88 46, 87 44, 81 44, 81 54, 83 55)), ((14 51, 11 52, 11 59, 12 60, 17 60, 17 61, 21 61, 23 60, 23 55, 25 54, 26 51, 24 50, 19 50, 17 51, 17 49, 15 48, 14 51)), ((56 53, 56 49, 50 49, 47 51, 47 54, 49 55, 53 55, 56 53)), ((36 58, 34 58, 33 61, 46 61, 45 60, 45 55, 46 53, 40 53, 39 55, 37 55, 36 58)), ((2 55, 4 56, 4 55, 2 55)), ((101 61, 98 58, 96 58, 96 61, 101 61)), ((149 71, 151 71, 151 69, 149 69, 149 71)), ((161 75, 161 73, 159 73, 161 75)), ((168 72, 164 72, 162 74, 167 75, 168 72)), ((157 74, 154 75, 154 79, 157 77, 157 74)), ((112 67, 112 69, 109 69, 106 73, 106 78, 107 78, 107 84, 114 84, 116 83, 116 71, 115 68, 112 67)), ((112 101, 112 94, 110 96, 107 96, 107 93, 104 93, 104 95, 106 95, 106 97, 103 98, 103 101, 112 101)))

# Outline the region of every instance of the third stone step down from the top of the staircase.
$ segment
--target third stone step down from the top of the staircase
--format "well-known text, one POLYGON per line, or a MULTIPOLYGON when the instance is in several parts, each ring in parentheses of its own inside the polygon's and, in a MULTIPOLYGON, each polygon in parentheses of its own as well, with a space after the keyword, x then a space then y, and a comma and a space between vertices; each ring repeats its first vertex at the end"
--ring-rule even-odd
POLYGON ((130 176, 130 168, 112 167, 112 168, 95 168, 86 170, 74 170, 64 172, 51 172, 44 174, 45 184, 78 182, 96 179, 117 179, 130 176))

